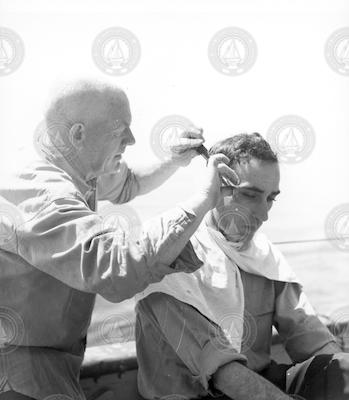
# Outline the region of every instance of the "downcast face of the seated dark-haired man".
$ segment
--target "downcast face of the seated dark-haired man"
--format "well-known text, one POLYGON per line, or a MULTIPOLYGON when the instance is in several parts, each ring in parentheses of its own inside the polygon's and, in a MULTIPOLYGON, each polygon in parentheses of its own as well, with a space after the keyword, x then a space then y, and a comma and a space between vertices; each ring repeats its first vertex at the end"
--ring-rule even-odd
POLYGON ((241 187, 225 190, 212 216, 227 240, 243 242, 243 249, 268 219, 273 201, 280 193, 280 171, 278 163, 256 158, 242 161, 234 169, 241 187))

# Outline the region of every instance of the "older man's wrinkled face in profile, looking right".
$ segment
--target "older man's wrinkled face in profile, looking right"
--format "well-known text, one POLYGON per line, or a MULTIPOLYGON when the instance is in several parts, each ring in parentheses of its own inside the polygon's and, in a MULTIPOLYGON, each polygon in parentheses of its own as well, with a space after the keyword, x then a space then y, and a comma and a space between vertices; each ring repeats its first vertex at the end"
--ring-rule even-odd
POLYGON ((126 96, 101 108, 88 126, 87 141, 93 169, 108 173, 117 169, 126 146, 134 144, 135 138, 130 129, 131 111, 126 96))

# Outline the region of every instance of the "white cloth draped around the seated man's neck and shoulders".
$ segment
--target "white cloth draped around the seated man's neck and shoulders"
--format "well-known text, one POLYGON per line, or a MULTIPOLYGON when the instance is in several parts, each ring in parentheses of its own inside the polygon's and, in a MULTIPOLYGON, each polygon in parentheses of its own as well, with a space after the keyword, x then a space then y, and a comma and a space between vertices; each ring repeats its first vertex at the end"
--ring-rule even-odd
POLYGON ((256 233, 246 250, 237 250, 204 220, 191 239, 203 266, 193 273, 167 275, 136 295, 167 293, 192 305, 219 325, 231 345, 241 351, 244 329, 244 288, 239 268, 270 280, 300 284, 281 252, 262 233, 256 233))

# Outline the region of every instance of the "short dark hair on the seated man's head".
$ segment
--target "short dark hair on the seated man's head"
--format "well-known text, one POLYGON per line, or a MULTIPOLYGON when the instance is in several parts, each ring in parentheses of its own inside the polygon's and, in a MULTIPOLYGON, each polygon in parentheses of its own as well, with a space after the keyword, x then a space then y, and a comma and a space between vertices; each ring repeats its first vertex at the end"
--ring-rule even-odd
POLYGON ((231 165, 250 161, 252 157, 262 161, 278 162, 276 153, 259 133, 240 133, 214 144, 209 154, 226 155, 231 165))

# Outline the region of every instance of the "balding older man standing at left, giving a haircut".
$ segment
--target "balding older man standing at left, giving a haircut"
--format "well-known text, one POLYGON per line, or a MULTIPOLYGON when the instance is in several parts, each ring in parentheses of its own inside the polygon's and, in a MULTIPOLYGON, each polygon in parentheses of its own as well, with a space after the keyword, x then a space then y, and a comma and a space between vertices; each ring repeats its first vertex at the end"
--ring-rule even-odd
POLYGON ((219 174, 232 172, 216 157, 193 198, 125 240, 103 225, 96 201, 124 203, 159 186, 188 164, 201 132, 193 128, 181 152, 136 172, 122 161, 135 143, 123 91, 75 83, 52 101, 45 122, 45 160, 0 187, 1 400, 83 399, 79 370, 96 294, 121 302, 166 274, 194 271, 186 243, 218 200, 219 174))

